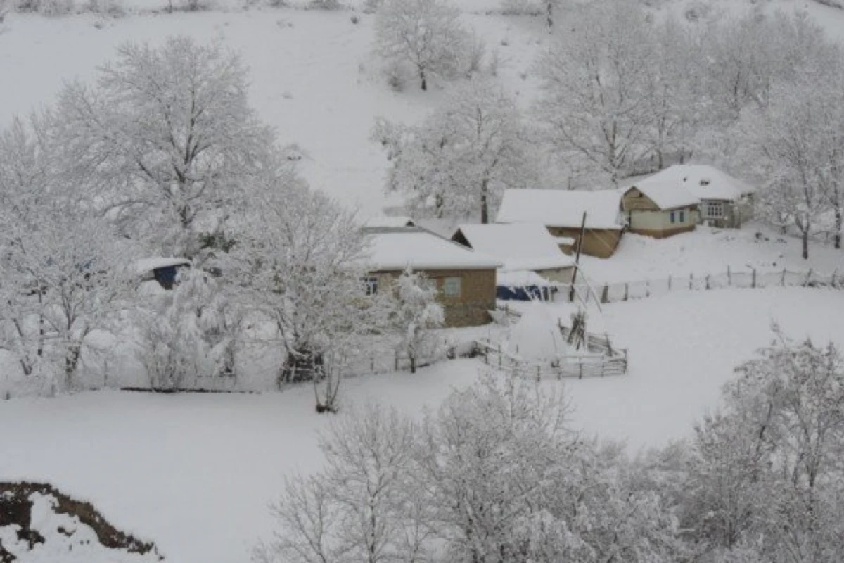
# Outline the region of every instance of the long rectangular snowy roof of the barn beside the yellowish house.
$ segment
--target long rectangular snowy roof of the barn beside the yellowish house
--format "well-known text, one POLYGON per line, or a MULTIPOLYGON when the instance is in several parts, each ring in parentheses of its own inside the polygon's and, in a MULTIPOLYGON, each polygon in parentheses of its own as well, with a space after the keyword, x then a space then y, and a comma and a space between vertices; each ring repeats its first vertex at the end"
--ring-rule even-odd
POLYGON ((504 191, 496 221, 577 228, 586 212, 587 229, 620 230, 620 209, 621 194, 616 190, 509 189, 504 191))

